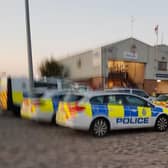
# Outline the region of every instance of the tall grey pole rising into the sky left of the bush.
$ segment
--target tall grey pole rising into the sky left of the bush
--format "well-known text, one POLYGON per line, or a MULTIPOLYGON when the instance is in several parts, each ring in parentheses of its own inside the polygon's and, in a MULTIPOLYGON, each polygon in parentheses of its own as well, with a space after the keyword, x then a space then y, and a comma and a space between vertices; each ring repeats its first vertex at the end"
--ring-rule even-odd
POLYGON ((30 94, 33 92, 33 61, 32 61, 32 47, 31 47, 31 30, 29 17, 29 0, 25 0, 26 12, 26 32, 27 32, 27 54, 28 54, 28 69, 29 69, 29 89, 30 94))

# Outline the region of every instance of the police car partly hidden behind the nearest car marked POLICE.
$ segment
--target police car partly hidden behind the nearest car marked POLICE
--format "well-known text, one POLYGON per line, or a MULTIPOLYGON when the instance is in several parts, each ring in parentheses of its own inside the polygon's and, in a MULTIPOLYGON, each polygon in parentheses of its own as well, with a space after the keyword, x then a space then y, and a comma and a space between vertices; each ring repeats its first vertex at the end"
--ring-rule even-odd
POLYGON ((21 117, 36 121, 55 122, 58 103, 67 90, 49 89, 44 93, 25 97, 21 106, 21 117))

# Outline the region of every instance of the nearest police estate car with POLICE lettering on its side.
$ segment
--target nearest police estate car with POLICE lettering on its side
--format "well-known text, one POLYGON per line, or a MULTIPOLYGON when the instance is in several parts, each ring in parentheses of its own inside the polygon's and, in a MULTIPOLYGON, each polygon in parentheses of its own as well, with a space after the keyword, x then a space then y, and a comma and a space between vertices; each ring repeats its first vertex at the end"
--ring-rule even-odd
POLYGON ((115 129, 154 127, 166 131, 168 109, 127 93, 70 94, 59 103, 56 122, 74 129, 90 130, 98 137, 115 129))

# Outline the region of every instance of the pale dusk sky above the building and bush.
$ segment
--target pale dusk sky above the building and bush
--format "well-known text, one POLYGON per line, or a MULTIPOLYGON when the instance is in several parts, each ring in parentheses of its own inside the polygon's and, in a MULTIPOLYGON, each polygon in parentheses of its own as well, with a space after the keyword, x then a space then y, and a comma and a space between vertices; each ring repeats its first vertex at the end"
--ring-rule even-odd
MULTIPOLYGON (((0 75, 27 76, 25 1, 0 0, 0 75)), ((131 36, 168 44, 167 0, 29 0, 34 76, 40 63, 59 60, 131 36), (162 40, 161 40, 162 39, 162 40)))

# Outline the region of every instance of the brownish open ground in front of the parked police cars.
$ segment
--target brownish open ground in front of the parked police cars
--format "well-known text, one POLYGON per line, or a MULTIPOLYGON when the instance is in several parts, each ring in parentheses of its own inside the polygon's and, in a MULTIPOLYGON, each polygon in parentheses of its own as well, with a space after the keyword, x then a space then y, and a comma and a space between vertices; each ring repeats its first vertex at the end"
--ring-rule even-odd
POLYGON ((88 132, 0 114, 0 168, 168 168, 168 132, 88 132))

